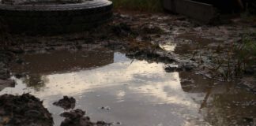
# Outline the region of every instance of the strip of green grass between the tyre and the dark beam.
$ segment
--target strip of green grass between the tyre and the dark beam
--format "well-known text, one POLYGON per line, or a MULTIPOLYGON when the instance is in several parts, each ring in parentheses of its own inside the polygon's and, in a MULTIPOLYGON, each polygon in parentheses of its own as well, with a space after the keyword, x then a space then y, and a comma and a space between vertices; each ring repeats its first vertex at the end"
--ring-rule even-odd
POLYGON ((161 12, 161 0, 111 0, 115 9, 133 9, 149 12, 161 12))

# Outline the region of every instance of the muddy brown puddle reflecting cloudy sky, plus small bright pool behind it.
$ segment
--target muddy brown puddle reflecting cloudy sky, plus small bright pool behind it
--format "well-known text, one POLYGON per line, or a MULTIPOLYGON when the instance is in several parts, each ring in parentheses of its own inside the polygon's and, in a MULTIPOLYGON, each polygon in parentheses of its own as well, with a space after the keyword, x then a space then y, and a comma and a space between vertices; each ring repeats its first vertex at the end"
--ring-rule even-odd
MULTIPOLYGON (((167 50, 175 47, 164 45, 167 50)), ((192 72, 165 72, 163 63, 139 61, 105 48, 24 54, 12 65, 15 87, 3 94, 31 93, 43 100, 55 125, 65 111, 52 105, 63 95, 77 99, 92 120, 122 126, 255 125, 256 95, 236 83, 192 72)))

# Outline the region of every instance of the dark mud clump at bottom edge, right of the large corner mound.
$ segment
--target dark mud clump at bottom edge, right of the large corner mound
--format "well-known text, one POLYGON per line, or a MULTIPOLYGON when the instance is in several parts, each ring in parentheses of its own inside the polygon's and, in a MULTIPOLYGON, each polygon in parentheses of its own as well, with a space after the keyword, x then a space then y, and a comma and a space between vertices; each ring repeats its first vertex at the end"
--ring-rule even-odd
POLYGON ((70 112, 64 112, 61 114, 62 117, 65 117, 65 120, 62 121, 61 126, 110 126, 104 121, 97 121, 96 123, 92 122, 89 117, 85 117, 85 111, 81 109, 74 109, 70 112))

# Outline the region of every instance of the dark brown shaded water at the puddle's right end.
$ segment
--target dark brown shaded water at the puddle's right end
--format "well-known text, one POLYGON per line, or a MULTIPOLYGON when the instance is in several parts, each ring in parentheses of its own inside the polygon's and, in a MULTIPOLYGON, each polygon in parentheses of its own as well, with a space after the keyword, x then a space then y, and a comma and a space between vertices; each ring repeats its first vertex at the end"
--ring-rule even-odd
MULTIPOLYGON (((199 113, 213 125, 254 125, 256 119, 256 95, 235 87, 235 83, 223 83, 204 79, 188 72, 180 72, 183 91, 199 94, 203 100, 199 113), (193 81, 190 81, 193 79, 193 81), (207 83, 207 84, 205 84, 207 83)), ((196 98, 195 98, 196 99, 196 98)))

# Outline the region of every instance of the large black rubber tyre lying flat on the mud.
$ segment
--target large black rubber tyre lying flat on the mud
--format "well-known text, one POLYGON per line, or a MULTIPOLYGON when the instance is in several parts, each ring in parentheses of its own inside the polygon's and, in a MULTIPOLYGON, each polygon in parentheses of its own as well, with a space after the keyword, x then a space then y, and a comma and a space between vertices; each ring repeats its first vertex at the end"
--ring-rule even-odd
POLYGON ((111 9, 108 0, 2 0, 0 17, 13 33, 56 34, 103 24, 111 9))

